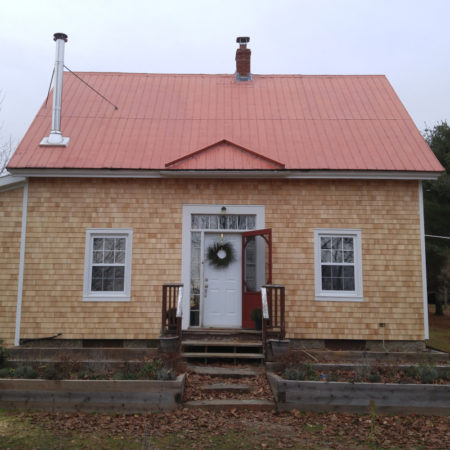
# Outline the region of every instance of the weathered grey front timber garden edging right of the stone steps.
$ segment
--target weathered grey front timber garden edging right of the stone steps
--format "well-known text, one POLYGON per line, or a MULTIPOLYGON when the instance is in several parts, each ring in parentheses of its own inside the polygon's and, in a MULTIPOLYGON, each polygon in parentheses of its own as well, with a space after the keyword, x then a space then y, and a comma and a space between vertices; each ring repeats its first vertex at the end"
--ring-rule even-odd
POLYGON ((450 414, 450 385, 285 380, 267 372, 278 411, 450 414))

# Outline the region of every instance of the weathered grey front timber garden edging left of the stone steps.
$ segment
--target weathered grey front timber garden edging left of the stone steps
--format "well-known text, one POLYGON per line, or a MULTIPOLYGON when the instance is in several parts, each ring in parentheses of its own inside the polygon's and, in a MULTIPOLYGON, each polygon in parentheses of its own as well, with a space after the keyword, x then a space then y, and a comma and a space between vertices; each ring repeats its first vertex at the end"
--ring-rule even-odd
POLYGON ((160 380, 0 379, 0 408, 45 411, 172 410, 183 399, 185 374, 160 380))

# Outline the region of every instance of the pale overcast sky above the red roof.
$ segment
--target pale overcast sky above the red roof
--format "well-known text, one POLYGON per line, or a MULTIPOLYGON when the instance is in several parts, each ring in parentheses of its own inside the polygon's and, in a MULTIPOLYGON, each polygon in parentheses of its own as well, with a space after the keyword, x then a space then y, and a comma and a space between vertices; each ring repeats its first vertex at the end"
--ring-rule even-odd
MULTIPOLYGON (((0 139, 47 95, 54 32, 74 71, 385 74, 418 128, 450 120, 450 0, 0 0, 0 139)), ((64 105, 63 105, 64 108, 64 105)), ((50 130, 49 130, 50 131, 50 130)))

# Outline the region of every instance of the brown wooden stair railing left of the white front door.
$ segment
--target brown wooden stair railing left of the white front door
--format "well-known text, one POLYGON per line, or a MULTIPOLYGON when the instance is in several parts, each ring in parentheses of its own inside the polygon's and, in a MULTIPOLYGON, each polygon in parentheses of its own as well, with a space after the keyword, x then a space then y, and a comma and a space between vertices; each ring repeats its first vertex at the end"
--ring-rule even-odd
POLYGON ((181 338, 181 283, 163 284, 161 336, 178 336, 181 338))

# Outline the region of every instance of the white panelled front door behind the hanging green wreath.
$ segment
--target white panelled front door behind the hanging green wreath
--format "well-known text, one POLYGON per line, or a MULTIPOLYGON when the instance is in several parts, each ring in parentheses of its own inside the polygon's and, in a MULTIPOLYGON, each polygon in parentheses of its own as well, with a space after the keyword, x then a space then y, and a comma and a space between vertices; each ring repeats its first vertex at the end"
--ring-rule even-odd
POLYGON ((207 259, 211 245, 221 241, 218 233, 205 233, 203 264, 203 326, 241 327, 242 325, 242 243, 240 234, 224 234, 224 242, 234 248, 235 260, 225 268, 207 259))

